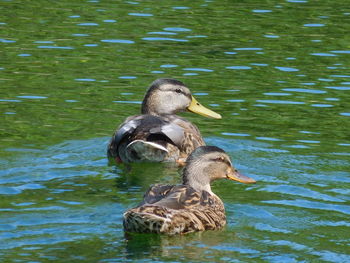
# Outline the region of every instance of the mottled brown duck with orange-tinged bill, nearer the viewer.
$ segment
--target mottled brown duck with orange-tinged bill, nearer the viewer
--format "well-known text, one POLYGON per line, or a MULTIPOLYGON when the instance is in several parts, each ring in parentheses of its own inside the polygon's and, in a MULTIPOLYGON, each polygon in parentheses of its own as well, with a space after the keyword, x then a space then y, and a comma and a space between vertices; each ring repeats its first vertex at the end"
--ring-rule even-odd
POLYGON ((217 179, 256 182, 238 172, 221 148, 200 146, 186 160, 182 184, 151 186, 143 201, 123 214, 124 231, 176 235, 222 228, 225 207, 210 186, 217 179))

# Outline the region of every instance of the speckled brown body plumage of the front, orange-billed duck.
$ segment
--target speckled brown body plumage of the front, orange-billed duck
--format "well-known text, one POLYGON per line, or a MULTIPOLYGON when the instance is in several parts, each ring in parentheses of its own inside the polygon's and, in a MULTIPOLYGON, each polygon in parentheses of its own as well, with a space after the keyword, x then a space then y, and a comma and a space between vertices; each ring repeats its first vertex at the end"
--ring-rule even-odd
POLYGON ((124 228, 130 232, 186 234, 220 229, 226 224, 224 204, 215 194, 190 186, 155 185, 144 203, 124 214, 124 228), (162 196, 158 202, 154 196, 162 196), (162 202, 163 201, 163 202, 162 202))

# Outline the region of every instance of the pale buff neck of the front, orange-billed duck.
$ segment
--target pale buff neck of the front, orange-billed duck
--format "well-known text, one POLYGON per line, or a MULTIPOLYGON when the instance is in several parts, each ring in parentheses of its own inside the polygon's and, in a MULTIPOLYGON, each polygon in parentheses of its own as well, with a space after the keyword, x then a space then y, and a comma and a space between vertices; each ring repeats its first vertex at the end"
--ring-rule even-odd
POLYGON ((210 187, 210 179, 208 176, 203 176, 204 173, 204 169, 190 164, 184 169, 182 183, 191 186, 196 191, 207 191, 210 194, 214 194, 210 187))

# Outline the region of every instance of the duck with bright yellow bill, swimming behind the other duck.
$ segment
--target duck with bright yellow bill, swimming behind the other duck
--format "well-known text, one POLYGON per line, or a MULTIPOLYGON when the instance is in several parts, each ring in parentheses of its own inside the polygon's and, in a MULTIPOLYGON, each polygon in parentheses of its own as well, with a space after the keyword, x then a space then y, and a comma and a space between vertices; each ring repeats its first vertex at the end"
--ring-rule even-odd
POLYGON ((202 106, 181 81, 158 79, 146 92, 142 115, 128 117, 112 136, 108 157, 117 163, 181 163, 195 148, 205 145, 198 128, 176 115, 181 111, 221 119, 220 114, 202 106))

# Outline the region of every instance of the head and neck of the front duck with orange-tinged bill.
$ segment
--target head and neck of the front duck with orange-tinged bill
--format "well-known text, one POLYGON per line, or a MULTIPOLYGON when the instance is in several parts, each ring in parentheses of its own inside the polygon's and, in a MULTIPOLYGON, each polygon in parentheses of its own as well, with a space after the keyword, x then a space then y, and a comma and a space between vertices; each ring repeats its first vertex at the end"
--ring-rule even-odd
POLYGON ((225 151, 216 146, 201 146, 195 149, 186 160, 182 179, 183 184, 209 193, 212 193, 210 183, 217 179, 247 184, 256 182, 239 173, 225 151))

